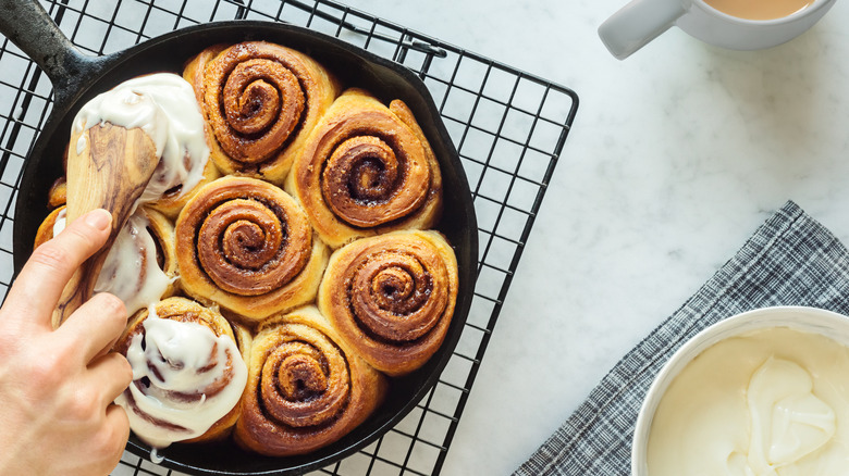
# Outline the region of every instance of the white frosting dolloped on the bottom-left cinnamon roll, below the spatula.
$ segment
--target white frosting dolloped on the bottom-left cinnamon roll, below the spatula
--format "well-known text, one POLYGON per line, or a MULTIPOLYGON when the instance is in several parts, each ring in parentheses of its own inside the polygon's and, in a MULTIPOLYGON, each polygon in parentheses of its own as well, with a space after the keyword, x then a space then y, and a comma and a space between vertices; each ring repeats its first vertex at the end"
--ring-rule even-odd
POLYGON ((126 354, 133 367, 133 384, 115 403, 126 410, 136 436, 153 448, 205 434, 233 410, 247 384, 247 366, 235 342, 227 336, 217 337, 197 323, 157 317, 152 309, 143 325, 144 345, 142 334, 134 336, 126 354), (210 362, 214 363, 212 368, 205 368, 210 362), (223 390, 210 397, 202 394, 229 373, 231 381, 223 390), (143 378, 149 380, 149 387, 144 388, 143 378), (127 392, 135 404, 131 404, 127 392), (195 401, 181 401, 173 398, 175 393, 201 396, 195 401), (156 425, 150 417, 175 427, 156 425))

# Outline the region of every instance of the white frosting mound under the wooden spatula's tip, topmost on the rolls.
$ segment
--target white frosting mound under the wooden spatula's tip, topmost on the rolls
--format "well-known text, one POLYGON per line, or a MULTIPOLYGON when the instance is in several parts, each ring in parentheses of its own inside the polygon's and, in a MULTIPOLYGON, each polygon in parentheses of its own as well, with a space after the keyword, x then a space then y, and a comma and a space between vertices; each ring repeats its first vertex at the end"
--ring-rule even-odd
MULTIPOLYGON (((209 147, 204 133, 204 116, 192 85, 172 73, 158 73, 126 80, 86 103, 74 118, 79 133, 100 123, 131 129, 138 127, 153 140, 161 159, 145 189, 140 203, 162 198, 182 185, 181 195, 204 177, 209 147)), ((76 143, 77 153, 86 148, 85 135, 76 143)))

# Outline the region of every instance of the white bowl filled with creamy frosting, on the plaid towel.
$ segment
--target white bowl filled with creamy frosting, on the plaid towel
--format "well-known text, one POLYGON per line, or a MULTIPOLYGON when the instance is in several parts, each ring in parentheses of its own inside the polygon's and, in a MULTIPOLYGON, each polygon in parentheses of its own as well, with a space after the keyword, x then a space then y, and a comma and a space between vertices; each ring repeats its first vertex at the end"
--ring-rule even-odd
POLYGON ((631 474, 841 475, 849 468, 849 317, 764 308, 687 341, 643 400, 631 474))

